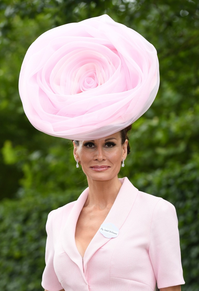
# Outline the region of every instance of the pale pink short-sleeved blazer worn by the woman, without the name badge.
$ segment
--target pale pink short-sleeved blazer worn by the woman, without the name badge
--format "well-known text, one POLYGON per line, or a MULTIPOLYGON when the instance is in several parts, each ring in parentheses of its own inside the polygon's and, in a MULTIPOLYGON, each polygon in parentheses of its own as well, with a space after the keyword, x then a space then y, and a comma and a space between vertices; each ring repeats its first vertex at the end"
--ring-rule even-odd
POLYGON ((49 291, 154 291, 184 284, 178 219, 170 202, 138 191, 128 178, 104 223, 119 228, 115 238, 99 231, 82 259, 75 243, 77 219, 88 188, 77 201, 50 212, 46 223, 46 267, 42 287, 49 291))

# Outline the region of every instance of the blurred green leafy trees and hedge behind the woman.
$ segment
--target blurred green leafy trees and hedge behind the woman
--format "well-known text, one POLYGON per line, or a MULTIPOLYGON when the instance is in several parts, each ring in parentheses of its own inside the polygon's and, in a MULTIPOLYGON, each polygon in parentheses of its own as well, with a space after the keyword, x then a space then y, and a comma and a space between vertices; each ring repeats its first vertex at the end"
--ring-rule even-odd
POLYGON ((37 131, 18 93, 21 63, 44 31, 102 14, 157 49, 160 88, 132 127, 120 175, 175 205, 185 285, 199 290, 199 3, 192 0, 0 1, 0 286, 42 290, 47 214, 87 187, 72 144, 37 131))

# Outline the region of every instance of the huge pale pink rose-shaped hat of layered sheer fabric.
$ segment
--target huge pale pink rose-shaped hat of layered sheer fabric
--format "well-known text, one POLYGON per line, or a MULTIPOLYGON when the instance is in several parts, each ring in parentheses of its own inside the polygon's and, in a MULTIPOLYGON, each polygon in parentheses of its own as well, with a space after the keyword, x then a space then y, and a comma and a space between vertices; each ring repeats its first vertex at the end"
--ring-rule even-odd
POLYGON ((132 124, 150 107, 158 87, 155 47, 108 15, 43 33, 29 47, 19 77, 31 124, 79 141, 132 124))

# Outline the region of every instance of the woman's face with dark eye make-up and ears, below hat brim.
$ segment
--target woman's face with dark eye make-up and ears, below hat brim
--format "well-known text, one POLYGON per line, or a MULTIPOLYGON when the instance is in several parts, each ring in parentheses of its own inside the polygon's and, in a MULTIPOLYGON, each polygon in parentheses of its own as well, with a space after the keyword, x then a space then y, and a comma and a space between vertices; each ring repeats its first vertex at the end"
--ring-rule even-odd
POLYGON ((121 162, 126 159, 127 144, 121 144, 120 132, 102 139, 74 142, 74 157, 81 164, 87 178, 98 181, 111 180, 118 175, 121 162))

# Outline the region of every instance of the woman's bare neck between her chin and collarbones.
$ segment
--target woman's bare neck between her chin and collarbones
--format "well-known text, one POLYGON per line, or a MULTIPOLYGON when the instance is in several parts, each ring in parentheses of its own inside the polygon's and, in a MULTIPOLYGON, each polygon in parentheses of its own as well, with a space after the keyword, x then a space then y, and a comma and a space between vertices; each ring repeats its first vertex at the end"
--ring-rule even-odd
POLYGON ((108 181, 96 181, 87 178, 89 186, 88 198, 84 207, 91 207, 96 210, 104 210, 112 207, 122 183, 118 177, 108 181))

